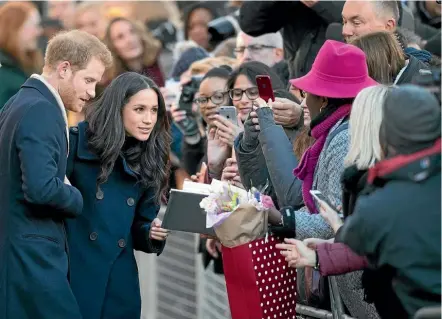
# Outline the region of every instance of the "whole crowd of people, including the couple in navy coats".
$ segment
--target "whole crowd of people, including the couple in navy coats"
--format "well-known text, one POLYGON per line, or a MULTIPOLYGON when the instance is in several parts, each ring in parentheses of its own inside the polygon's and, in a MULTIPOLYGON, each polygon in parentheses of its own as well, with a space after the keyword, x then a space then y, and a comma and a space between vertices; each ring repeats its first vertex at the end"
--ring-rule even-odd
POLYGON ((440 3, 173 8, 171 52, 102 3, 0 4, 0 318, 139 319, 134 250, 161 254, 185 179, 265 189, 299 304, 331 310, 335 276, 353 318, 440 318, 440 3))

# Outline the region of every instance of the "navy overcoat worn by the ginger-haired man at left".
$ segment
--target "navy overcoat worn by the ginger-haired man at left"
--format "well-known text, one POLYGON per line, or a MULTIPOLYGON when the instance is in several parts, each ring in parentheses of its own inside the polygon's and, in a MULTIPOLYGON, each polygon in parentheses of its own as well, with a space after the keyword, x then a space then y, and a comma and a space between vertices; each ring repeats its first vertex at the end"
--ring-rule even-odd
POLYGON ((83 208, 65 184, 66 123, 29 79, 0 113, 0 318, 78 319, 64 222, 83 208))

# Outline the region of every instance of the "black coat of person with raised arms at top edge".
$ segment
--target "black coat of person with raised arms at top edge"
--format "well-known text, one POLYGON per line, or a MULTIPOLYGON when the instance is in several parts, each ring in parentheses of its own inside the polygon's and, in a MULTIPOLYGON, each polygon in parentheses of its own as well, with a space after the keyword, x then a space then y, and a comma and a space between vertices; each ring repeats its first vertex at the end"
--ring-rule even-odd
POLYGON ((308 8, 300 1, 244 1, 239 25, 257 37, 283 29, 290 77, 307 74, 325 42, 330 23, 341 22, 344 1, 319 1, 308 8))

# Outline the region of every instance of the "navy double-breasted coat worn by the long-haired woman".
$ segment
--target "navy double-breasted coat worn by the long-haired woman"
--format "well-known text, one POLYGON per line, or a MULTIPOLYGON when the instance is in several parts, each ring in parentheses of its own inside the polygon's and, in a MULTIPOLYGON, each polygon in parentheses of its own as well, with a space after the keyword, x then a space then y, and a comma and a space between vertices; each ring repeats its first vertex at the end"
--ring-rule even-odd
POLYGON ((162 252, 164 242, 149 239, 159 206, 123 157, 97 189, 100 160, 88 149, 86 129, 81 122, 69 134, 68 178, 84 199, 81 216, 67 224, 72 290, 84 319, 140 319, 134 249, 162 252))

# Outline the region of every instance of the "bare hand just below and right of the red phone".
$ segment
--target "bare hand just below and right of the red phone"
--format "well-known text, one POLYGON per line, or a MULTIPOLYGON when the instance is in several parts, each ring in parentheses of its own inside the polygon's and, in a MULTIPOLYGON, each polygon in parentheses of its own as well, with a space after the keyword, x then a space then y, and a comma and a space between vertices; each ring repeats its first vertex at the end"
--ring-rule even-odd
POLYGON ((283 127, 292 128, 298 125, 302 115, 302 107, 285 98, 275 98, 274 102, 270 102, 273 110, 273 118, 275 123, 283 127))

